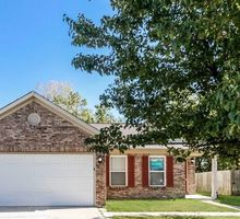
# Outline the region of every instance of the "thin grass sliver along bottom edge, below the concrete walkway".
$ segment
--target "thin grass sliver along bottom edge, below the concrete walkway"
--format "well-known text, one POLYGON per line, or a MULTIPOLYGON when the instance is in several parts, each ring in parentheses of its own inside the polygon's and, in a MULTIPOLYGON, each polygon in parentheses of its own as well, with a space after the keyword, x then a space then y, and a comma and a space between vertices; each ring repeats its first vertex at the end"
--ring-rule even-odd
MULTIPOLYGON (((143 219, 143 217, 113 217, 113 219, 143 219)), ((144 219, 239 219, 239 217, 144 217, 144 219)))

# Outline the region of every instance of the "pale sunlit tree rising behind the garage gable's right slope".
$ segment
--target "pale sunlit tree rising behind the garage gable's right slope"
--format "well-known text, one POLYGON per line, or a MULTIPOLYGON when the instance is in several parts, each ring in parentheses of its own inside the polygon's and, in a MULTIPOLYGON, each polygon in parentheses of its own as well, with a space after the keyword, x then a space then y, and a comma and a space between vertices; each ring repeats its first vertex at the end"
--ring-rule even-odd
POLYGON ((87 101, 79 92, 74 91, 71 84, 50 81, 49 83, 38 85, 37 90, 47 100, 61 106, 72 115, 87 123, 94 122, 93 113, 87 108, 87 101))

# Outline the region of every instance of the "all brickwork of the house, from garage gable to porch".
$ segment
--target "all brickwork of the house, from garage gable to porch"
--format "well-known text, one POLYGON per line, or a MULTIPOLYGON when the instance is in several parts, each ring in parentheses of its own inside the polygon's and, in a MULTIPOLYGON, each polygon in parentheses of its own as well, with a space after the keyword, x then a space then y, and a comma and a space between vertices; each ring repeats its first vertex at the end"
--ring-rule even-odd
MULTIPOLYGON (((88 135, 57 114, 32 102, 17 112, 0 119, 0 152, 87 152, 84 139, 88 135), (38 113, 41 122, 36 127, 26 120, 31 113, 38 113)), ((142 187, 142 154, 135 154, 134 187, 108 187, 106 192, 105 160, 96 157, 96 205, 103 206, 108 198, 167 198, 185 194, 184 163, 175 163, 175 187, 142 187), (107 194, 106 194, 107 193, 107 194)), ((194 191, 194 166, 188 168, 190 193, 194 191)))

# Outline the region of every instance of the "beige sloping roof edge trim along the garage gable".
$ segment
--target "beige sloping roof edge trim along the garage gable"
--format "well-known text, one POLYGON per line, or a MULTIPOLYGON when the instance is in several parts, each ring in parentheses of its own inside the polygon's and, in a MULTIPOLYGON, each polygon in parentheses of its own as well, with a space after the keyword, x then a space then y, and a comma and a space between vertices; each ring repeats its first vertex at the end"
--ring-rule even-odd
POLYGON ((96 135, 98 134, 98 129, 93 127, 92 125, 81 120, 80 118, 73 116, 70 114, 68 111, 63 110, 62 107, 51 103, 47 99, 45 99, 43 95, 32 91, 22 97, 15 100, 14 102, 5 105, 4 107, 0 108, 0 119, 4 118, 5 116, 16 112, 17 110, 22 108, 23 106, 29 104, 31 102, 36 102, 40 104, 41 106, 46 107, 50 112, 61 116, 69 123, 77 126, 82 130, 85 130, 85 132, 91 134, 91 135, 96 135))

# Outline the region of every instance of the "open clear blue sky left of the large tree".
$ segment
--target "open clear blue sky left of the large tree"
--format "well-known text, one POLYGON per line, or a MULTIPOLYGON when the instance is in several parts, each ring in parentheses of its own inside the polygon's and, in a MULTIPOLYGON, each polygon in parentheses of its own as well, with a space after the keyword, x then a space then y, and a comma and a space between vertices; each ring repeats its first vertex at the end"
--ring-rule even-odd
POLYGON ((63 14, 84 13, 94 22, 111 14, 109 0, 0 0, 0 107, 49 81, 71 83, 88 102, 99 103, 112 78, 75 70, 63 14))

